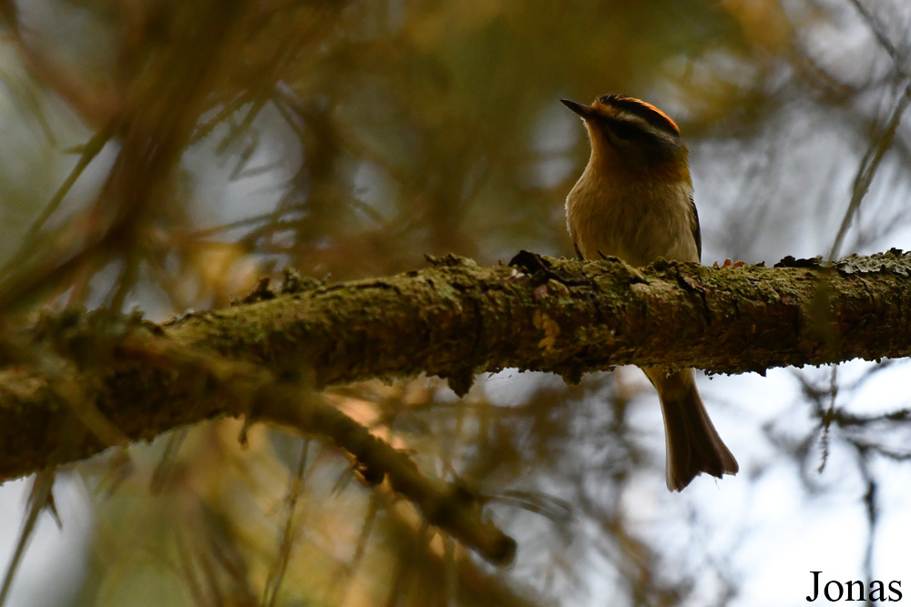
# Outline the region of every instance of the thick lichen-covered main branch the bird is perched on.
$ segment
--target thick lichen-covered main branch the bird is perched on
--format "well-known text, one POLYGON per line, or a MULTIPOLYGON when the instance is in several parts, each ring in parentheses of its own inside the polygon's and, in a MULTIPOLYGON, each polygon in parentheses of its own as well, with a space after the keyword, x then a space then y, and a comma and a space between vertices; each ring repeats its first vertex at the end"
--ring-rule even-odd
POLYGON ((775 268, 521 253, 495 268, 443 258, 389 278, 289 279, 161 326, 115 330, 109 317, 67 313, 6 349, 26 354, 7 352, 0 369, 0 481, 200 420, 255 416, 273 381, 322 388, 426 372, 461 393, 474 374, 507 367, 574 381, 628 363, 737 373, 905 357, 909 277, 911 255, 897 250, 775 268), (53 372, 35 354, 48 349, 64 361, 53 372))

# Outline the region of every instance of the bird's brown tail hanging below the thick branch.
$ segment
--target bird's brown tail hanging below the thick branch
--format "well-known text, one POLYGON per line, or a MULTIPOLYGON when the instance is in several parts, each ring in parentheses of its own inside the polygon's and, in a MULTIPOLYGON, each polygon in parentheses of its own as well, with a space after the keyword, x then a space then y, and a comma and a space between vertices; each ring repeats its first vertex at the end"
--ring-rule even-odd
POLYGON ((645 370, 658 390, 667 441, 667 480, 670 491, 681 491, 702 472, 718 478, 736 474, 737 460, 718 436, 702 404, 692 369, 668 373, 645 370))

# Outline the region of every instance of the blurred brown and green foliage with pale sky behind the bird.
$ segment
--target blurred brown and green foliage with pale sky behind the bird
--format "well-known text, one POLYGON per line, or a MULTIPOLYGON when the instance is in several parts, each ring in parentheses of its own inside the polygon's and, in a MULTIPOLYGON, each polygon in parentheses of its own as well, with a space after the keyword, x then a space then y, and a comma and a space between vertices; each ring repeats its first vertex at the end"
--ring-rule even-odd
MULTIPOLYGON (((36 306, 166 319, 226 306, 285 265, 344 280, 425 253, 569 255, 563 199, 588 143, 563 96, 639 96, 677 119, 703 263, 911 234, 905 0, 3 0, 0 13, 7 319, 36 306)), ((790 512, 833 501, 830 531, 856 546, 844 571, 873 576, 908 399, 862 390, 902 367, 703 383, 742 472, 682 495, 664 489, 659 408, 632 369, 574 387, 506 371, 461 400, 423 378, 333 390, 426 473, 486 495, 519 541, 507 570, 364 488, 317 440, 255 428, 241 448, 232 420, 175 431, 61 474, 57 491, 76 486, 90 512, 75 573, 16 581, 11 602, 762 604, 775 550, 757 536, 781 546, 790 512)))

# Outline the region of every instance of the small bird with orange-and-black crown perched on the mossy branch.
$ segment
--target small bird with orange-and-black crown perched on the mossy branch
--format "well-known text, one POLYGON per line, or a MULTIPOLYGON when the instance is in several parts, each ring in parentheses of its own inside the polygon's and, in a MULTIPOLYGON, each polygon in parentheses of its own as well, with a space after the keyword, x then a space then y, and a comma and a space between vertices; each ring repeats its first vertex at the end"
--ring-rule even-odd
MULTIPOLYGON (((589 131, 589 164, 567 197, 567 227, 582 259, 612 255, 641 267, 657 258, 701 260, 689 150, 680 128, 640 99, 605 95, 590 105, 560 100, 589 131)), ((737 460, 711 424, 693 369, 643 368, 658 390, 667 481, 681 491, 702 472, 735 474, 737 460)))

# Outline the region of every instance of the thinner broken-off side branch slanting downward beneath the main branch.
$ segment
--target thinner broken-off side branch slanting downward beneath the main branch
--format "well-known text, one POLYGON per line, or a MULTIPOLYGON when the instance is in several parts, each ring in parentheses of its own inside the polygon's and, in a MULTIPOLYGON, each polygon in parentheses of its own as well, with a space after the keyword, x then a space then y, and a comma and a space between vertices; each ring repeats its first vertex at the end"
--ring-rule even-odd
MULTIPOLYGON (((331 440, 353 456, 363 481, 379 484, 388 479, 390 487, 415 504, 425 521, 448 532, 488 561, 501 564, 512 561, 516 542, 484 520, 478 497, 457 483, 448 484, 422 474, 407 453, 374 437, 309 389, 308 381, 278 379, 249 362, 201 353, 172 339, 142 333, 137 335, 133 331, 118 340, 117 362, 111 362, 118 379, 110 382, 91 371, 70 378, 67 386, 54 387, 35 379, 16 381, 13 376, 5 377, 0 386, 9 388, 19 383, 26 390, 14 394, 0 389, 0 401, 9 404, 18 400, 26 408, 17 418, 6 417, 13 417, 19 423, 27 420, 31 427, 36 422, 48 421, 55 433, 47 437, 40 450, 22 440, 11 442, 10 448, 19 450, 18 457, 0 461, 0 470, 4 470, 0 479, 12 476, 7 471, 11 464, 14 468, 10 471, 14 474, 19 471, 15 470, 16 460, 25 463, 29 455, 35 458, 36 469, 45 468, 125 442, 116 438, 108 444, 102 442, 99 437, 110 438, 110 433, 87 427, 90 422, 85 420, 86 407, 77 408, 67 402, 71 400, 69 391, 73 391, 73 386, 80 387, 77 389, 80 396, 87 392, 83 386, 97 386, 97 393, 92 394, 97 410, 92 412, 96 418, 103 418, 99 412, 107 415, 120 426, 125 438, 151 438, 169 427, 230 415, 271 422, 306 436, 331 440), (50 419, 36 419, 48 413, 50 419), (66 436, 56 434, 67 427, 66 436)), ((72 335, 69 337, 72 339, 72 335)), ((17 424, 13 427, 23 430, 17 424)), ((0 441, 13 438, 0 430, 0 441)))

